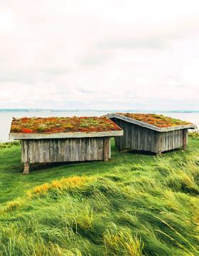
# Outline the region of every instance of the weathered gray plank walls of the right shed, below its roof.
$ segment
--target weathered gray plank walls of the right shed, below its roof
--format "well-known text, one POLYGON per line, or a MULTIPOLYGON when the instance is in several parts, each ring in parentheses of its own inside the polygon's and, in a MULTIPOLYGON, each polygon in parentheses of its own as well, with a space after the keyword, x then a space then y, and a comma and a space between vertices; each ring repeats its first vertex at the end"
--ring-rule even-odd
POLYGON ((124 130, 124 136, 115 138, 115 145, 120 150, 143 150, 159 153, 183 146, 183 130, 159 133, 117 118, 112 118, 112 121, 124 130))

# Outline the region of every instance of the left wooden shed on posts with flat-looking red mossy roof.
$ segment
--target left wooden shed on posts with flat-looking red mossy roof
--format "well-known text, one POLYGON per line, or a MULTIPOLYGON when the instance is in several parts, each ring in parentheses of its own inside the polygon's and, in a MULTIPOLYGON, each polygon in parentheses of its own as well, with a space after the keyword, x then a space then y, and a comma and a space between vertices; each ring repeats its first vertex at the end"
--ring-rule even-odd
POLYGON ((10 139, 21 140, 23 173, 30 163, 111 158, 111 137, 123 130, 107 117, 13 118, 10 139))

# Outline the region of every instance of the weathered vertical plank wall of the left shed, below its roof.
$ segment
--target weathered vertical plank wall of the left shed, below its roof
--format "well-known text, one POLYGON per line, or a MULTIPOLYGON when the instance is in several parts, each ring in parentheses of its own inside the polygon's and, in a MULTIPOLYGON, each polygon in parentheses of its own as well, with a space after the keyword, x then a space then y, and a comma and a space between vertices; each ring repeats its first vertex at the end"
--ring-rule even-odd
MULTIPOLYGON (((108 138, 110 148, 110 138, 108 138)), ((103 160, 104 138, 69 138, 22 140, 21 161, 26 163, 55 163, 103 160)), ((110 158, 110 150, 108 154, 110 158)))

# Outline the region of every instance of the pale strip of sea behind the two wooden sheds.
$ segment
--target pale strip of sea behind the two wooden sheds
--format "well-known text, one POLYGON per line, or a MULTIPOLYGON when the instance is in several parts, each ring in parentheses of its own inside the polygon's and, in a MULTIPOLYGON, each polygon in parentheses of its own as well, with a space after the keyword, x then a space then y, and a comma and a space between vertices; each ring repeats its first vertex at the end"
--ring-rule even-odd
POLYGON ((49 109, 0 109, 0 142, 9 141, 12 118, 52 116, 103 116, 107 113, 157 113, 183 121, 190 121, 199 127, 199 111, 146 111, 146 110, 49 110, 49 109))

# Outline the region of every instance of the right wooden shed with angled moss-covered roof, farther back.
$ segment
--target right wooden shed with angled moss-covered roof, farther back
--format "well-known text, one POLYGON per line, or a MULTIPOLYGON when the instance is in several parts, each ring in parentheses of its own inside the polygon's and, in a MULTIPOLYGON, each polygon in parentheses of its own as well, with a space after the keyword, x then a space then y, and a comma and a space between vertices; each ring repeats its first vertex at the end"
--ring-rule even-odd
POLYGON ((109 113, 107 117, 124 130, 124 136, 115 138, 119 150, 161 153, 185 149, 188 129, 196 128, 193 123, 155 114, 109 113))

